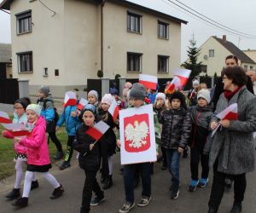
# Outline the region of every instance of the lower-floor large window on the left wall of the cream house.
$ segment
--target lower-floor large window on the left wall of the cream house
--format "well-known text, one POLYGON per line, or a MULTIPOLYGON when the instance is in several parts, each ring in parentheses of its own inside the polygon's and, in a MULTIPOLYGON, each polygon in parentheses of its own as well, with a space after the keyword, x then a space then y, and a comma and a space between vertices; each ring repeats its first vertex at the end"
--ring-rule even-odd
POLYGON ((19 72, 32 72, 32 52, 17 53, 19 72))

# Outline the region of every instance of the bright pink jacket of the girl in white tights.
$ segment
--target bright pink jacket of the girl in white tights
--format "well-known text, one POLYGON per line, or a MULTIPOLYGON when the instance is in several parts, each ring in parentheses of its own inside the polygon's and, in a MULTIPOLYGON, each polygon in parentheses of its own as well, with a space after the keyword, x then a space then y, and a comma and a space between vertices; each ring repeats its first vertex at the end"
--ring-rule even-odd
POLYGON ((31 135, 22 138, 20 145, 27 147, 27 164, 50 164, 49 149, 46 139, 46 122, 44 117, 39 117, 31 135))

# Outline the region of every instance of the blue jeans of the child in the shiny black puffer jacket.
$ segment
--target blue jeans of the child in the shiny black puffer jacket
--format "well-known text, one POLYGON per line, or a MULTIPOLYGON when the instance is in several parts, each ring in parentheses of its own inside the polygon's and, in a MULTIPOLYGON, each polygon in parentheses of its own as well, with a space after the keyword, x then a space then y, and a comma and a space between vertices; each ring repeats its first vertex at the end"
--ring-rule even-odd
POLYGON ((172 175, 172 185, 179 187, 179 162, 180 153, 177 149, 166 149, 167 166, 172 175))

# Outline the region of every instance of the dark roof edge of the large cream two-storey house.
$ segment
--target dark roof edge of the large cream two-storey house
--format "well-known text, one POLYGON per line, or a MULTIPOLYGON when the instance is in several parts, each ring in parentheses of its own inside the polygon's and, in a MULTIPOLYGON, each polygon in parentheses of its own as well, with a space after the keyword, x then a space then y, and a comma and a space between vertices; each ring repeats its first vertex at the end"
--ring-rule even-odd
MULTIPOLYGON (((7 9, 7 10, 10 10, 10 3, 12 3, 13 0, 3 0, 2 3, 0 3, 0 9, 7 9)), ((95 0, 96 3, 101 3, 102 0, 95 0)), ((106 0, 107 1, 107 0, 106 0)), ((181 20, 181 19, 178 19, 177 17, 174 17, 170 14, 165 14, 165 13, 162 13, 158 10, 155 10, 155 9, 149 9, 147 7, 144 7, 140 4, 137 4, 137 3, 131 3, 129 1, 126 1, 126 0, 112 0, 113 2, 115 3, 122 3, 122 4, 125 4, 127 6, 131 6, 131 7, 134 7, 136 9, 141 9, 143 11, 146 11, 148 13, 151 13, 151 14, 156 14, 162 18, 166 18, 168 20, 173 20, 173 21, 176 21, 178 23, 183 23, 183 24, 187 24, 188 21, 186 20, 181 20)))

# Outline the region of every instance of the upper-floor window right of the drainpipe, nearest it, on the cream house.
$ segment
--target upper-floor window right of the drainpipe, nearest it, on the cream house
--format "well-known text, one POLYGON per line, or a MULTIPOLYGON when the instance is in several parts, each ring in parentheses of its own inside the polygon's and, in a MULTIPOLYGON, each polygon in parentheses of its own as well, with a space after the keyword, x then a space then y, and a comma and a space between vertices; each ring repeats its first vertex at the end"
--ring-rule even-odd
POLYGON ((142 32, 142 15, 127 12, 127 31, 142 32))

